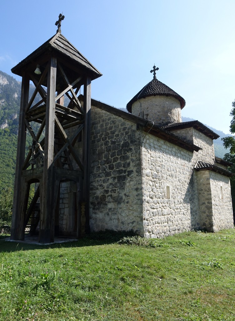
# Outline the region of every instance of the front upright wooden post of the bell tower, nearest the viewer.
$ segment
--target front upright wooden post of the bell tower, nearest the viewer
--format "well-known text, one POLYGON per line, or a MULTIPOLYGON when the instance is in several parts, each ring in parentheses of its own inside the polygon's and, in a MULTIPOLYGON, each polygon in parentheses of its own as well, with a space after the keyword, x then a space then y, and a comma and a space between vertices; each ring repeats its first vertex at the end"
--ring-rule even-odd
POLYGON ((47 75, 47 99, 45 122, 45 156, 42 195, 40 195, 41 217, 39 242, 54 242, 54 123, 55 123, 56 58, 51 57, 47 75))

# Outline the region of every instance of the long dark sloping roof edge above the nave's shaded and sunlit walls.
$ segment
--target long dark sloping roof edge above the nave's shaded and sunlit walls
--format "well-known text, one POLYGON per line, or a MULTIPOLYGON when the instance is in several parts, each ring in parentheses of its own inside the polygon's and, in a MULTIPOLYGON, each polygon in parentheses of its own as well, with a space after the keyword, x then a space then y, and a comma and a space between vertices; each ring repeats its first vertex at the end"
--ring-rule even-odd
MULTIPOLYGON (((79 100, 83 101, 83 95, 80 95, 78 98, 79 98, 79 100)), ((153 123, 151 121, 134 116, 132 114, 127 113, 126 111, 120 110, 118 108, 114 108, 114 107, 107 105, 107 104, 105 104, 101 101, 98 101, 98 100, 92 99, 91 104, 92 104, 92 106, 95 106, 97 108, 105 110, 111 114, 118 116, 118 117, 122 117, 124 119, 127 119, 127 120, 135 123, 137 129, 141 129, 147 133, 150 133, 156 137, 159 137, 159 138, 165 140, 166 142, 172 143, 172 144, 177 145, 183 149, 186 149, 187 151, 198 152, 199 150, 202 149, 199 146, 196 146, 196 145, 192 144, 191 142, 160 128, 159 126, 153 125, 153 123)))

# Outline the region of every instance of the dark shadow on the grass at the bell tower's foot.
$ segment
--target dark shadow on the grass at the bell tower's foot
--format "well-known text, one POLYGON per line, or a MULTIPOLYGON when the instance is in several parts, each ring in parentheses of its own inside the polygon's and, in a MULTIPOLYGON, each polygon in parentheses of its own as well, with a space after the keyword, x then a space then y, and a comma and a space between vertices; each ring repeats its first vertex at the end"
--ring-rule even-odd
POLYGON ((77 241, 65 242, 65 243, 55 243, 49 245, 36 245, 21 242, 9 242, 5 238, 9 236, 0 235, 0 253, 1 252, 15 252, 15 251, 27 251, 27 250, 38 250, 38 249, 49 249, 49 248, 67 248, 67 247, 85 247, 85 246, 95 246, 95 245, 105 245, 117 243, 120 239, 127 236, 134 236, 136 233, 133 231, 102 231, 94 232, 87 235, 83 239, 78 239, 77 241))

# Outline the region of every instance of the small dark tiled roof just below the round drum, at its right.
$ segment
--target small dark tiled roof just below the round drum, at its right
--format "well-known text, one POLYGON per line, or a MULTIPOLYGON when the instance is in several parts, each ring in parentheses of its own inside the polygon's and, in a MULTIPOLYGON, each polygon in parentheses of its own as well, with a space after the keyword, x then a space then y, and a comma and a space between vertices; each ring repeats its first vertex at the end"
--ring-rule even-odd
POLYGON ((197 129, 199 132, 205 134, 206 136, 208 136, 212 139, 217 139, 220 137, 218 134, 213 132, 213 130, 211 130, 207 126, 203 125, 198 120, 186 121, 183 123, 175 123, 175 124, 170 124, 170 125, 166 125, 166 126, 161 126, 161 128, 166 129, 168 131, 177 130, 177 129, 180 130, 180 129, 190 128, 190 127, 197 129))

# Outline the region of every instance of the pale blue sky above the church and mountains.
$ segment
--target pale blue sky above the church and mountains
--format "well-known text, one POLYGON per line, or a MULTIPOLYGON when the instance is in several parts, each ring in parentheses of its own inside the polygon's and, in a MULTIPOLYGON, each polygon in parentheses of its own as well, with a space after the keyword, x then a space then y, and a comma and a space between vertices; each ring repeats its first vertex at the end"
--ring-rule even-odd
POLYGON ((158 80, 186 100, 182 116, 229 133, 234 0, 13 0, 0 10, 0 70, 7 74, 56 33, 63 12, 62 34, 103 74, 92 83, 94 99, 125 108, 155 63, 158 80))

